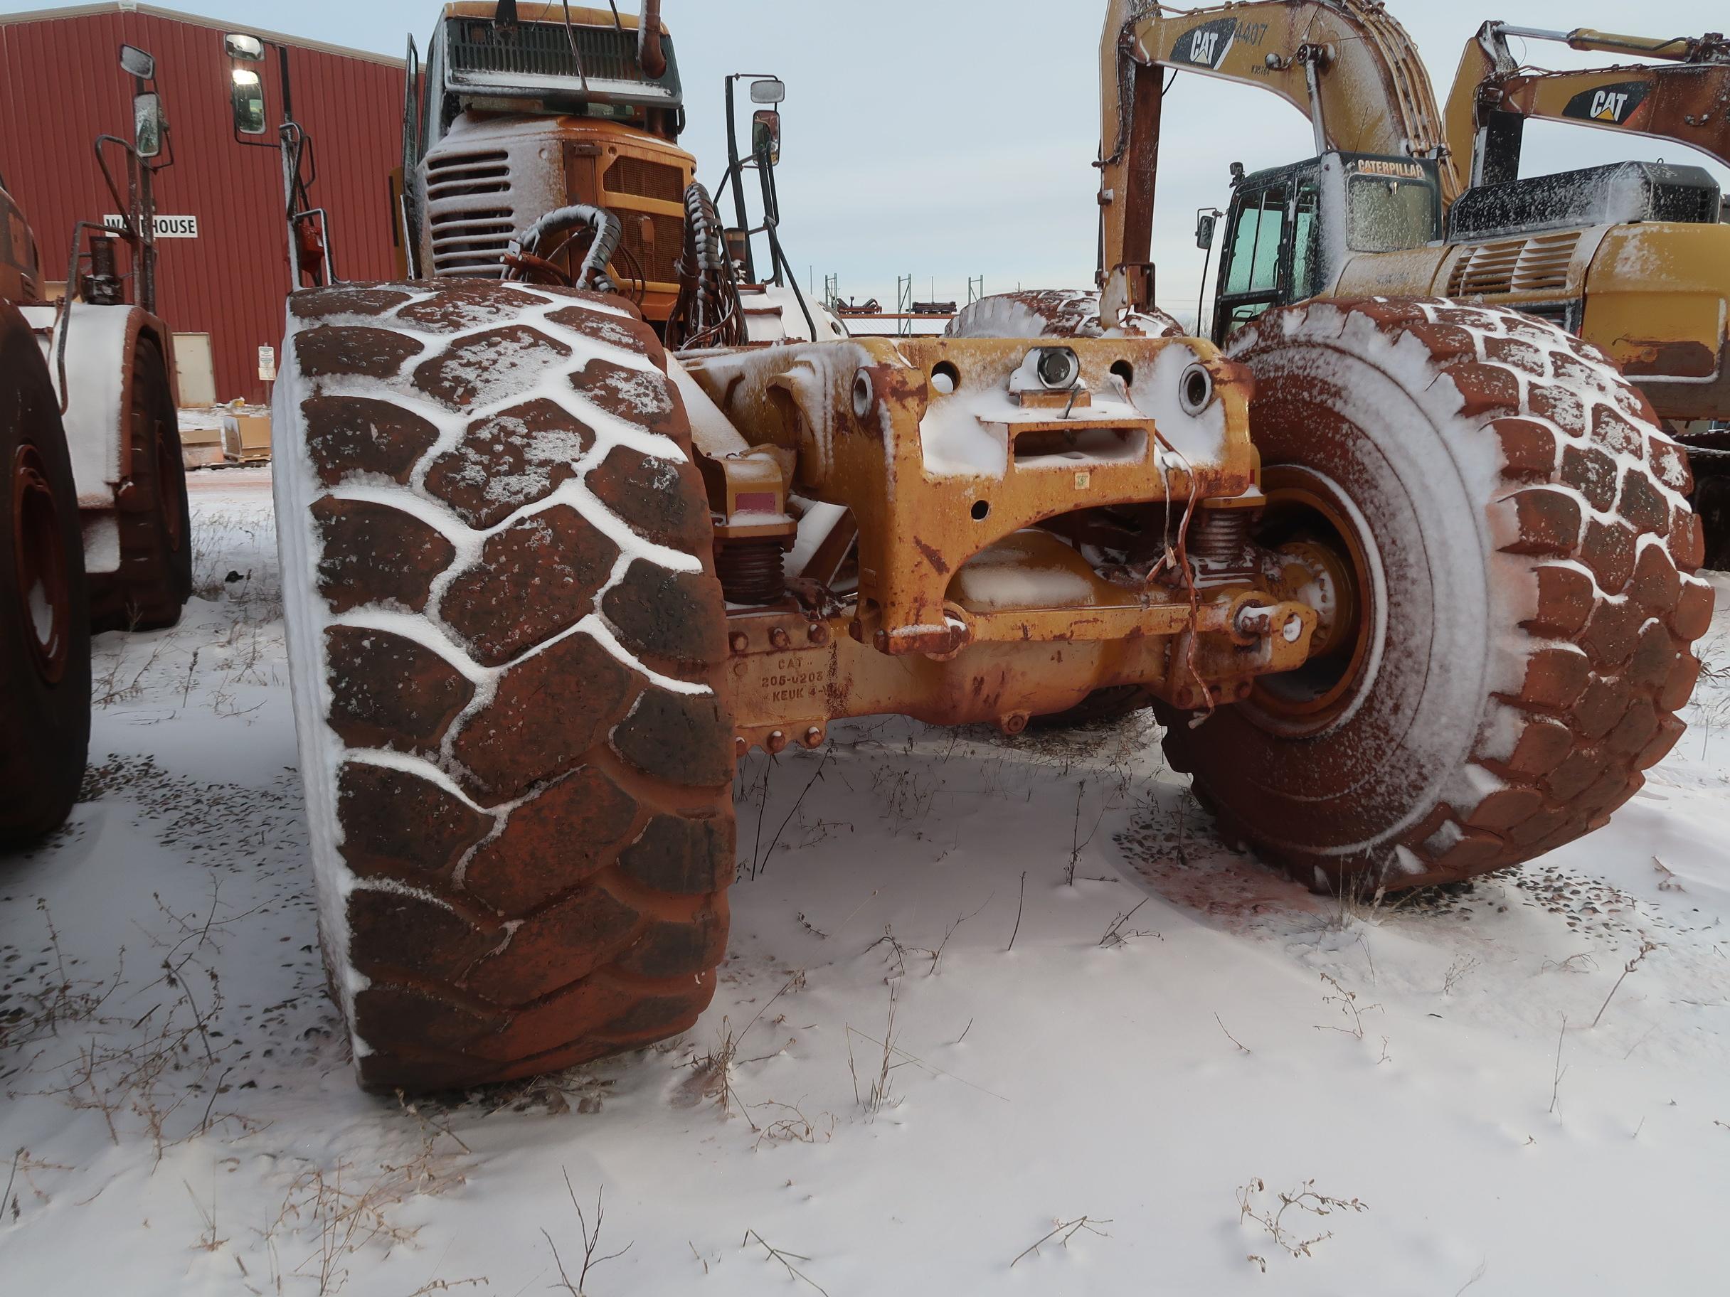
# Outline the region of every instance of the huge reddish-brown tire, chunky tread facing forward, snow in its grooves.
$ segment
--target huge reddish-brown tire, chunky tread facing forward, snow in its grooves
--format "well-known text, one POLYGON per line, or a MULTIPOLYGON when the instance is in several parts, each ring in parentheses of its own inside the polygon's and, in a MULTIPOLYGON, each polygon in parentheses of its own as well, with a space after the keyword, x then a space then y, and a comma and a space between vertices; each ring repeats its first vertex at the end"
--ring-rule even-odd
POLYGON ((725 605, 683 405, 618 297, 291 299, 277 521, 320 929, 362 1083, 690 1027, 734 875, 725 605))

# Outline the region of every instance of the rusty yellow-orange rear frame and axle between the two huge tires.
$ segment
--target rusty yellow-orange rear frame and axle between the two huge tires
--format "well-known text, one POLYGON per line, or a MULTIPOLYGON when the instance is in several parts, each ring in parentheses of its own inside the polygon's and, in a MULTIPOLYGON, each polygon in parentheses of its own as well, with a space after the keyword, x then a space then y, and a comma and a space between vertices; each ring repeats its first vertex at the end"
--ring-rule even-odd
POLYGON ((1251 384, 1206 342, 867 339, 685 372, 763 438, 701 457, 718 536, 778 548, 792 502, 858 533, 856 595, 801 579, 830 557, 789 574, 798 598, 730 607, 740 751, 815 747, 843 716, 1017 732, 1118 685, 1211 707, 1310 654, 1317 614, 1247 543, 1251 384), (1157 519, 1111 579, 1059 534, 1107 508, 1157 519))

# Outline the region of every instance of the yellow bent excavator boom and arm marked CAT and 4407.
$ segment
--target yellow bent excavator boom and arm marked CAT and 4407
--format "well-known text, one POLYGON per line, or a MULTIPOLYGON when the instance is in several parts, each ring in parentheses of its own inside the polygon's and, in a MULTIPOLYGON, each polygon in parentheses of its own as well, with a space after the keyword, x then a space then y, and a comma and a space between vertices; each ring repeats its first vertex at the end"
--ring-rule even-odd
MULTIPOLYGON (((1164 69, 1272 90, 1315 125, 1317 152, 1438 157, 1443 121, 1405 28, 1365 0, 1266 0, 1163 12, 1111 0, 1100 40, 1102 278, 1135 275, 1150 246, 1164 69), (1144 12, 1145 10, 1145 12, 1144 12)), ((1443 164, 1443 197, 1458 176, 1443 164)))

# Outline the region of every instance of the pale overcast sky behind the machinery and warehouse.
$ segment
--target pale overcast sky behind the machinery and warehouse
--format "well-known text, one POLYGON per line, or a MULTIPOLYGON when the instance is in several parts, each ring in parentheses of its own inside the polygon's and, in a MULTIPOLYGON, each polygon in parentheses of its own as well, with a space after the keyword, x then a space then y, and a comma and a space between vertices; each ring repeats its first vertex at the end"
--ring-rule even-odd
MULTIPOLYGON (((600 3, 600 0, 588 0, 600 3)), ((638 0, 619 0, 635 9, 638 0)), ((42 9, 0 0, 0 12, 42 9)), ((187 0, 235 26, 401 55, 422 48, 434 0, 187 0)), ((1438 97, 1488 17, 1535 28, 1701 35, 1727 26, 1723 0, 1391 0, 1429 62, 1438 97)), ((841 292, 894 299, 896 275, 919 296, 1092 282, 1097 244, 1099 0, 664 0, 685 78, 699 176, 725 168, 721 83, 728 73, 787 81, 778 173, 784 242, 801 275, 841 277, 841 292), (810 270, 808 270, 810 268, 810 270)), ((1515 54, 1519 54, 1515 45, 1515 54)), ((1531 62, 1590 67, 1604 55, 1531 43, 1531 62)), ((1194 214, 1225 206, 1230 163, 1251 171, 1313 152, 1308 121, 1272 95, 1180 76, 1166 100, 1154 256, 1159 299, 1194 313, 1202 254, 1194 214)), ((1535 123, 1526 173, 1624 157, 1704 163, 1699 154, 1607 131, 1535 123)), ((1730 173, 1714 168, 1730 187, 1730 173)))

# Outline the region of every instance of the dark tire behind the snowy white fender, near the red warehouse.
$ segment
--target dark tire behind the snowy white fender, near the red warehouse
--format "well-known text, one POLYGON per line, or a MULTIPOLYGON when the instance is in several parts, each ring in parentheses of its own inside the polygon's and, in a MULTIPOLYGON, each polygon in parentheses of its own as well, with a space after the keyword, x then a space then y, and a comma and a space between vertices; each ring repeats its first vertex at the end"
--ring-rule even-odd
POLYGON ((97 631, 173 626, 192 597, 192 519, 168 361, 140 337, 131 363, 130 470, 116 500, 119 567, 90 574, 97 631))

